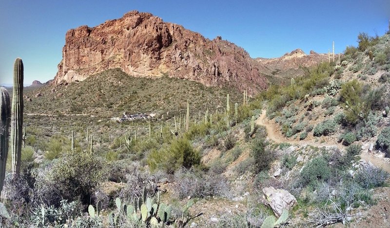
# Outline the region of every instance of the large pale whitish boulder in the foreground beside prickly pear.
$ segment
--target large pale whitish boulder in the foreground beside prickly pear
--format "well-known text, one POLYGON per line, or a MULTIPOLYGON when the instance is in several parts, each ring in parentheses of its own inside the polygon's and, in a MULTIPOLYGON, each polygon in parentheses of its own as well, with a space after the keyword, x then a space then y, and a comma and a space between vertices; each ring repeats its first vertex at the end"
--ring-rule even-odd
POLYGON ((263 193, 265 203, 271 207, 276 217, 279 217, 283 210, 291 210, 297 203, 295 197, 283 189, 275 189, 271 186, 263 188, 263 193))

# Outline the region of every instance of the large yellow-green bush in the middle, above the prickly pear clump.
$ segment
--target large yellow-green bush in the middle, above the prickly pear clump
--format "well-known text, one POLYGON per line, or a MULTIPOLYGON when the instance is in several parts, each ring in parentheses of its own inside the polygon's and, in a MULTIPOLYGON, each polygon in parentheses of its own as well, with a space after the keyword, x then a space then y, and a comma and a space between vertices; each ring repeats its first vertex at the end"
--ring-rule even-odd
POLYGON ((173 140, 168 147, 152 150, 147 162, 151 170, 162 169, 167 173, 174 173, 180 167, 191 168, 199 165, 200 154, 189 140, 180 138, 173 140))

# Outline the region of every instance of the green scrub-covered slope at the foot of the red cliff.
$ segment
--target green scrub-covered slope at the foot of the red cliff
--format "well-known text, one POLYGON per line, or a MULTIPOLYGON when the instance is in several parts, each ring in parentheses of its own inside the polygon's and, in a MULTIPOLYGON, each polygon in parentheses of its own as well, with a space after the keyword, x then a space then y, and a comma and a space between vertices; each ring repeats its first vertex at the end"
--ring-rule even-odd
POLYGON ((168 76, 139 78, 113 69, 81 82, 28 91, 25 93, 25 97, 29 97, 25 102, 25 113, 100 117, 120 117, 123 112, 158 113, 172 118, 187 107, 187 100, 194 113, 205 109, 223 111, 228 93, 232 102, 242 99, 242 94, 234 88, 205 87, 168 76))

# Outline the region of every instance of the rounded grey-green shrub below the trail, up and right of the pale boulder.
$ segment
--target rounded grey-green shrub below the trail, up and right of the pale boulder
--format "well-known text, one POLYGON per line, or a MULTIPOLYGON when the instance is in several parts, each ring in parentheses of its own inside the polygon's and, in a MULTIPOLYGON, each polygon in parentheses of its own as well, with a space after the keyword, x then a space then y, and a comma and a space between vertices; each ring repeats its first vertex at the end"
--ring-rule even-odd
POLYGON ((331 169, 323 157, 316 157, 309 161, 300 173, 302 183, 307 185, 316 181, 326 181, 331 177, 331 169))

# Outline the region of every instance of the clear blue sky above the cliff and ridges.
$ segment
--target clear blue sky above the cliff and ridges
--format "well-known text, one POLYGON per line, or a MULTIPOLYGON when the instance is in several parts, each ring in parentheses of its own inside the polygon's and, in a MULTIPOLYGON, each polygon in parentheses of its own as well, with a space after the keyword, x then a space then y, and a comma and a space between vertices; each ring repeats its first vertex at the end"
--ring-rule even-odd
POLYGON ((327 53, 333 40, 339 53, 356 45, 359 32, 384 34, 390 0, 0 0, 0 84, 12 83, 16 57, 23 59, 26 85, 53 79, 67 30, 131 10, 210 39, 221 35, 252 57, 278 57, 297 48, 327 53))

